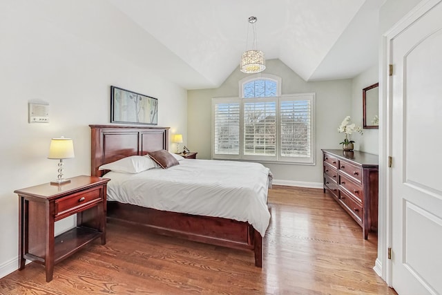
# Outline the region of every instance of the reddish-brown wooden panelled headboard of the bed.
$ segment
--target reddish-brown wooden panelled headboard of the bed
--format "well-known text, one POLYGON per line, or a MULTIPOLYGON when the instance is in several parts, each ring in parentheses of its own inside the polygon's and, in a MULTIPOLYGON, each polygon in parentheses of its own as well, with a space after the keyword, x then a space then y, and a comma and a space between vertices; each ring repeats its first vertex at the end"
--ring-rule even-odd
POLYGON ((128 157, 146 155, 149 151, 169 150, 169 127, 89 125, 90 175, 102 176, 98 167, 128 157))

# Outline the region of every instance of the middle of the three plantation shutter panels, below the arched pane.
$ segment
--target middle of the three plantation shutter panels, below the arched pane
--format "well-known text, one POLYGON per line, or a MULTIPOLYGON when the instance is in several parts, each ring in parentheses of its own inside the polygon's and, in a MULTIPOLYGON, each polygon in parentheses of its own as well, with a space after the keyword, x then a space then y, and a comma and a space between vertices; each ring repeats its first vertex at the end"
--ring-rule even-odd
POLYGON ((276 157, 276 99, 243 99, 244 156, 276 157))

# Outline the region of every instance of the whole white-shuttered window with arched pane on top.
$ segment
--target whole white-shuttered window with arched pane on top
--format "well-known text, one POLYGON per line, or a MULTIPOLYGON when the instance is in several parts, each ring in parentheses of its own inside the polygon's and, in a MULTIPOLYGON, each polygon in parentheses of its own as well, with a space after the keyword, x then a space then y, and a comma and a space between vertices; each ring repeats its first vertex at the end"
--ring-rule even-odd
POLYGON ((280 95, 280 78, 240 81, 243 98, 213 98, 212 158, 314 164, 314 93, 280 95))

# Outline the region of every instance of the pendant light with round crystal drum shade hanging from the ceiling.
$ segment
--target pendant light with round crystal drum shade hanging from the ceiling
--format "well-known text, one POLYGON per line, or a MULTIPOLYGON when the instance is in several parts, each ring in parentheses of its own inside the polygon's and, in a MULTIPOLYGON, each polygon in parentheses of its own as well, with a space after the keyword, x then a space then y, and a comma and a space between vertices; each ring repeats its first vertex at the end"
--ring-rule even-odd
POLYGON ((257 48, 257 38, 256 38, 256 26, 255 23, 258 19, 256 17, 249 17, 249 23, 253 30, 253 41, 251 44, 251 50, 247 50, 249 41, 249 30, 247 30, 246 39, 246 51, 242 53, 240 70, 242 73, 254 74, 260 73, 265 70, 265 57, 264 53, 257 48))

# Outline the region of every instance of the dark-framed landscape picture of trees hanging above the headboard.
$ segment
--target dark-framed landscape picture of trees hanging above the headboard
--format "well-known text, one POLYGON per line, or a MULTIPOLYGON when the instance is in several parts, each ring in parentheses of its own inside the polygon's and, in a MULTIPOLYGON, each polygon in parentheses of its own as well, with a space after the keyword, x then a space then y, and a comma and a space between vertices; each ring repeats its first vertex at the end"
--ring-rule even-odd
POLYGON ((111 86, 111 123, 158 124, 158 99, 111 86))

